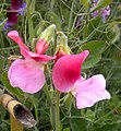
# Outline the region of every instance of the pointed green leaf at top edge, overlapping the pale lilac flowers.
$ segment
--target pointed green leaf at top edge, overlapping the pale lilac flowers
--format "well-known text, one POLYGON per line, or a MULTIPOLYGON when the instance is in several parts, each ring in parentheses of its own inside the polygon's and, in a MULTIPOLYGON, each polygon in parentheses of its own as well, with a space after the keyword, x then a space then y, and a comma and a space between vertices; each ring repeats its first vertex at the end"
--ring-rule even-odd
POLYGON ((99 0, 99 1, 97 2, 97 5, 96 5, 90 12, 100 10, 100 9, 109 5, 109 4, 111 3, 111 1, 112 1, 112 0, 99 0))

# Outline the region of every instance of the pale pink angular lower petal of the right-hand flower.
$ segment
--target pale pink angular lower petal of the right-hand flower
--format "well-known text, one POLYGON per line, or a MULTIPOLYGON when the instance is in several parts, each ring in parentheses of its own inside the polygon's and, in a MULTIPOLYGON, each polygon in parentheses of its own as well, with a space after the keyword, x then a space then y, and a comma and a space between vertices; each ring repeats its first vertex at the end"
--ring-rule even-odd
POLYGON ((110 98, 109 92, 106 91, 106 80, 101 74, 84 81, 78 80, 75 86, 75 98, 78 109, 90 107, 99 100, 110 98))

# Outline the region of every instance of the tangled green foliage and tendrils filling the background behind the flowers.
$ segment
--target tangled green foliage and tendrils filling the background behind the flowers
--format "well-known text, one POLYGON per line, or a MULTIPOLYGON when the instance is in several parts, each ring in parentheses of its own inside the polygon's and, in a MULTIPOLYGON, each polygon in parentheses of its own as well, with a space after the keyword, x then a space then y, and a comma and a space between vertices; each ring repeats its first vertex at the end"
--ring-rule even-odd
MULTIPOLYGON (((95 10, 110 5, 111 13, 104 23, 101 15, 92 16, 90 0, 26 0, 26 13, 8 31, 2 27, 7 21, 10 0, 0 0, 0 87, 14 95, 35 115, 37 126, 26 131, 51 131, 49 104, 45 90, 34 96, 25 94, 10 85, 8 57, 20 55, 19 46, 7 37, 11 29, 19 31, 26 45, 37 38, 50 24, 57 25, 68 36, 68 44, 73 53, 84 49, 90 56, 84 62, 82 72, 87 76, 102 73, 107 80, 110 100, 99 102, 92 108, 75 109, 71 95, 60 103, 61 124, 63 131, 121 131, 121 2, 120 0, 100 0, 95 10)), ((51 74, 50 74, 51 75, 51 74)), ((48 79, 49 76, 47 76, 48 79)), ((47 81, 51 96, 55 96, 51 84, 47 81)), ((46 87, 45 87, 46 88, 46 87)), ((55 99, 53 99, 55 105, 55 99)), ((55 110, 53 110, 55 111, 55 110)), ((0 106, 0 130, 9 131, 9 115, 0 106)))

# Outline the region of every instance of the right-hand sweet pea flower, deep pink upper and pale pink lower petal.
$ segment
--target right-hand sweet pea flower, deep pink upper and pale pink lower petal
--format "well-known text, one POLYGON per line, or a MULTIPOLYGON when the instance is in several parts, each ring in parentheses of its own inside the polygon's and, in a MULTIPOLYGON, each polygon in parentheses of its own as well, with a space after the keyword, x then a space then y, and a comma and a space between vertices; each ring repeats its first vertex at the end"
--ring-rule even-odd
POLYGON ((81 66, 87 56, 87 50, 78 55, 65 55, 56 62, 52 69, 55 87, 62 93, 71 92, 78 109, 110 98, 110 94, 106 91, 106 80, 101 74, 87 80, 81 76, 81 66))

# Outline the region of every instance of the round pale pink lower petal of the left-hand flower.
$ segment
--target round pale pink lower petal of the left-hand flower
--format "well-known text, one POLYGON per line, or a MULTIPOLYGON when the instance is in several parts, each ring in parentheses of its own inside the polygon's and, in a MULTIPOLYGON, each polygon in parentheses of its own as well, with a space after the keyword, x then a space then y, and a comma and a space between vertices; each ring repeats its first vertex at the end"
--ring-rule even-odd
POLYGON ((33 59, 15 60, 9 69, 8 78, 13 87, 34 94, 45 84, 44 67, 33 59))

